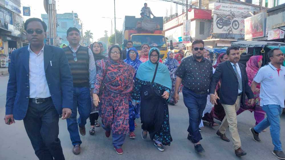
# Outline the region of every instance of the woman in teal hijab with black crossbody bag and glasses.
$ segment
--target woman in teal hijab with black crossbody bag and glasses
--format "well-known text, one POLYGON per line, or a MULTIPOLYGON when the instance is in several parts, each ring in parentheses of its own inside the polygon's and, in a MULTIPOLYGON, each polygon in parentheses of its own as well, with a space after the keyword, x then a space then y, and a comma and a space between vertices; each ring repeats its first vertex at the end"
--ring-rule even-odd
POLYGON ((132 99, 141 102, 142 138, 146 139, 148 132, 154 146, 164 151, 163 145, 170 146, 172 141, 167 103, 172 82, 168 68, 159 63, 159 55, 158 48, 150 49, 148 61, 139 66, 132 99))

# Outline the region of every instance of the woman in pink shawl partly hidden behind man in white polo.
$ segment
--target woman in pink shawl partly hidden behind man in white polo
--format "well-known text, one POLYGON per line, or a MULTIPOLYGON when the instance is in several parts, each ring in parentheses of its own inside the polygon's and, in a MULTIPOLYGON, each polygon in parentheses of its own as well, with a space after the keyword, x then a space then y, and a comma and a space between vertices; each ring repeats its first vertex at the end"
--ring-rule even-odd
MULTIPOLYGON (((262 65, 262 55, 257 55, 257 56, 252 56, 250 57, 249 61, 247 61, 247 77, 249 78, 249 86, 251 86, 251 83, 253 81, 253 78, 255 74, 257 73, 258 69, 262 65)), ((248 103, 248 98, 245 98, 245 106, 241 105, 241 108, 239 111, 237 111, 237 115, 242 113, 245 110, 249 110, 251 112, 254 112, 254 118, 255 118, 255 125, 257 125, 259 122, 261 122, 264 117, 265 117, 265 112, 262 110, 260 107, 260 98, 259 98, 259 93, 260 93, 260 84, 256 86, 256 90, 254 92, 254 103, 253 105, 250 105, 248 103)), ((265 132, 266 130, 263 130, 265 132)))

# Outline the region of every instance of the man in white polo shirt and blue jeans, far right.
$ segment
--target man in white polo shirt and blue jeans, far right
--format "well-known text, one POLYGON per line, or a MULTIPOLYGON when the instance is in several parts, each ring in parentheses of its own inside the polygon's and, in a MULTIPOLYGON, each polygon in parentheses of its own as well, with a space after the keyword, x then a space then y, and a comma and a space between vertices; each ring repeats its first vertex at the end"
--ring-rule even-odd
POLYGON ((261 142, 258 134, 270 126, 272 143, 274 144, 273 154, 279 159, 285 159, 280 141, 280 115, 284 108, 285 99, 285 67, 282 66, 284 54, 278 48, 268 52, 270 63, 261 67, 251 84, 251 90, 255 91, 260 83, 260 106, 266 112, 267 117, 258 123, 254 128, 250 128, 253 139, 261 142))

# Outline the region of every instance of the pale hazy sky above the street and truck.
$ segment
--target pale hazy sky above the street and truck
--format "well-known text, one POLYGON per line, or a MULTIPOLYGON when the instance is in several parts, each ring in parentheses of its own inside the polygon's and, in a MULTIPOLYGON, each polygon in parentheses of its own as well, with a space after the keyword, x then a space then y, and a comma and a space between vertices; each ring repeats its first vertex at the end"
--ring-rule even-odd
MULTIPOLYGON (((172 4, 172 13, 175 13, 175 4, 159 0, 116 0, 116 28, 121 30, 123 28, 123 21, 125 16, 140 17, 141 8, 144 3, 148 3, 152 13, 155 16, 165 16, 166 8, 169 9, 172 4)), ((43 0, 21 0, 23 6, 31 7, 31 16, 24 16, 27 20, 31 17, 40 18, 40 14, 46 14, 43 7, 43 0)), ((97 41, 98 38, 103 37, 104 30, 108 31, 111 35, 111 20, 109 18, 101 17, 114 17, 114 1, 113 0, 56 0, 57 13, 74 13, 78 14, 83 22, 83 31, 91 30, 93 33, 93 40, 97 41)), ((178 13, 182 13, 182 7, 178 6, 178 13)), ((113 19, 113 28, 114 28, 113 19)), ((114 29, 113 29, 114 33, 114 29)))

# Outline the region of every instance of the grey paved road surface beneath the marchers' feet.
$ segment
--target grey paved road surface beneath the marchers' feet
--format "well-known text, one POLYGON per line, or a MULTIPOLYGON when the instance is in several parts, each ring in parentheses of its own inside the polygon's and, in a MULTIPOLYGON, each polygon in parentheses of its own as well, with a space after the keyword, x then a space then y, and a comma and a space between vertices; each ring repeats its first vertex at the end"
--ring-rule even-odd
MULTIPOLYGON (((5 101, 6 101, 6 88, 7 76, 0 76, 0 115, 5 115, 5 101)), ((180 95, 182 99, 182 95, 180 95)), ((141 125, 140 121, 136 120, 138 126, 135 130, 137 138, 131 140, 126 138, 123 145, 123 155, 117 155, 112 146, 111 137, 106 138, 103 128, 95 128, 95 136, 88 133, 82 136, 82 151, 80 155, 72 153, 72 144, 69 138, 69 133, 66 127, 66 120, 60 120, 60 134, 62 148, 66 159, 276 159, 272 155, 272 141, 270 138, 269 128, 265 133, 260 134, 261 143, 253 141, 249 128, 254 126, 255 120, 253 113, 246 111, 238 116, 239 135, 243 149, 247 151, 247 155, 242 158, 237 158, 233 151, 231 142, 222 141, 215 133, 218 127, 209 128, 207 124, 202 128, 203 140, 201 141, 206 153, 197 154, 194 151, 193 144, 187 140, 187 127, 188 127, 188 111, 180 100, 175 106, 169 106, 170 113, 170 128, 173 142, 171 146, 165 146, 165 151, 158 151, 150 139, 142 140, 141 138, 141 125)), ((285 144, 285 116, 281 118, 281 141, 285 144)), ((220 124, 219 121, 216 121, 220 124)), ((89 128, 89 123, 86 128, 89 128)), ((23 125, 23 121, 16 121, 15 124, 8 126, 4 121, 0 121, 0 159, 1 160, 14 160, 14 159, 37 159, 34 155, 33 148, 28 139, 27 133, 23 125)), ((229 131, 226 135, 230 137, 229 131)))

